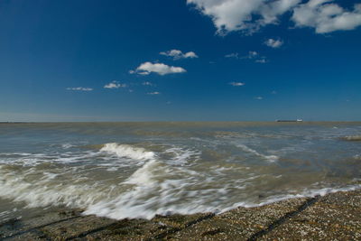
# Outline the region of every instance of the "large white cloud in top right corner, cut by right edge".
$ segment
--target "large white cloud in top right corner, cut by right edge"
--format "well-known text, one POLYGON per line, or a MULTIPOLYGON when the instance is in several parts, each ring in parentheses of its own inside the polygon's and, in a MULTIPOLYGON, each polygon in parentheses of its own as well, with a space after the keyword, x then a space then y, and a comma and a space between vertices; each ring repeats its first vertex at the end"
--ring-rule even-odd
POLYGON ((292 20, 297 27, 313 27, 318 33, 353 30, 361 25, 361 4, 349 12, 331 0, 310 0, 293 11, 292 20))

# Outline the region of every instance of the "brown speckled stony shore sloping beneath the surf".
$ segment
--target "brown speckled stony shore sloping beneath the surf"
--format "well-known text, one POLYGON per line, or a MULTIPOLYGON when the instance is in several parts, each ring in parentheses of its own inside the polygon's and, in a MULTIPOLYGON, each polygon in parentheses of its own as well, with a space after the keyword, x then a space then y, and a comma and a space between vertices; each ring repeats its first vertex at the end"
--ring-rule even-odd
POLYGON ((79 209, 0 223, 0 240, 361 240, 361 190, 222 214, 114 220, 79 209))

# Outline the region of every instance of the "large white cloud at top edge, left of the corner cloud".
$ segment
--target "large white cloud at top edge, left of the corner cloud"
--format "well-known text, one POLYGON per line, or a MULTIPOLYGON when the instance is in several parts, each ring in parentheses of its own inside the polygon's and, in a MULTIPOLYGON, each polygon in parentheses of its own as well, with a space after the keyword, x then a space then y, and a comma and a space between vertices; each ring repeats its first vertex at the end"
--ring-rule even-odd
POLYGON ((301 0, 187 0, 210 16, 219 34, 231 31, 254 32, 277 23, 278 16, 291 10, 301 0))

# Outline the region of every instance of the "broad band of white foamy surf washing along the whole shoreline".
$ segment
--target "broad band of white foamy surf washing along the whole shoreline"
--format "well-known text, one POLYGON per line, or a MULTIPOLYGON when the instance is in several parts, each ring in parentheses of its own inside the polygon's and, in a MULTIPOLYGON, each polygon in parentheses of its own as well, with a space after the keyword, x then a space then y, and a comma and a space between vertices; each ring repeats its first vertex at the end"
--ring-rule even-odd
MULTIPOLYGON (((212 169, 211 169, 212 170, 212 169)), ((28 208, 65 205, 85 209, 85 214, 107 218, 153 218, 156 214, 194 214, 223 212, 236 207, 256 207, 275 201, 326 195, 330 192, 356 190, 361 185, 344 188, 305 189, 299 194, 271 196, 263 202, 243 200, 229 202, 229 190, 242 190, 255 177, 218 185, 219 176, 173 167, 158 160, 143 164, 125 181, 106 184, 82 180, 58 181, 59 175, 44 172, 42 178, 29 181, 39 174, 34 167, 23 171, 0 169, 0 197, 25 201, 28 208)))

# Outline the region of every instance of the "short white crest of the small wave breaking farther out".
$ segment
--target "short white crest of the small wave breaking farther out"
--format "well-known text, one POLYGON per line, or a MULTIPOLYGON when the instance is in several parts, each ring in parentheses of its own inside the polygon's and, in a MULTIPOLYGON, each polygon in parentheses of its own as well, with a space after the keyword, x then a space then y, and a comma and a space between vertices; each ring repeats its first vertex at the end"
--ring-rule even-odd
POLYGON ((135 160, 151 160, 154 158, 155 153, 148 152, 142 147, 135 147, 129 144, 105 144, 101 152, 114 153, 119 157, 132 158, 135 160))

